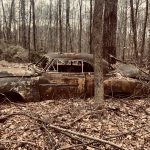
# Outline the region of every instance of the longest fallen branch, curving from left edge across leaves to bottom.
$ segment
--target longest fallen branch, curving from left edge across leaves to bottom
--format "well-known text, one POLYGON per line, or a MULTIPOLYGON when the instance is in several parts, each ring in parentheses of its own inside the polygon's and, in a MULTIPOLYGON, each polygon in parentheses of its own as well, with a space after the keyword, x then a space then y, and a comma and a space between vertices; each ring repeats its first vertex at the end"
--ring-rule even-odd
POLYGON ((34 119, 40 123, 44 123, 44 124, 47 124, 50 128, 54 129, 54 130, 57 130, 61 133, 69 133, 69 134, 73 134, 73 135, 76 135, 76 136, 79 136, 79 137, 82 137, 82 138, 86 138, 86 139, 89 139, 89 140, 92 140, 92 141, 95 141, 95 142, 100 142, 100 143, 103 143, 103 144, 108 144, 108 145, 111 145, 111 146, 114 146, 120 150, 126 150, 125 148, 122 148, 120 147, 119 145, 113 143, 113 142, 109 142, 107 140, 103 140, 103 139, 99 139, 99 138, 96 138, 96 137, 92 137, 92 136, 89 136, 89 135, 85 135, 85 134, 82 134, 82 133, 79 133, 79 132, 74 132, 74 131, 71 131, 71 130, 67 130, 67 129, 64 129, 64 128, 60 128, 60 127, 57 127, 53 124, 49 124, 48 122, 40 119, 40 118, 37 118, 37 117, 34 117, 32 116, 31 114, 27 114, 27 113, 13 113, 13 114, 9 114, 7 116, 4 116, 3 118, 0 118, 0 122, 1 120, 7 120, 9 117, 11 116, 14 116, 14 115, 23 115, 23 116, 27 116, 31 119, 34 119))

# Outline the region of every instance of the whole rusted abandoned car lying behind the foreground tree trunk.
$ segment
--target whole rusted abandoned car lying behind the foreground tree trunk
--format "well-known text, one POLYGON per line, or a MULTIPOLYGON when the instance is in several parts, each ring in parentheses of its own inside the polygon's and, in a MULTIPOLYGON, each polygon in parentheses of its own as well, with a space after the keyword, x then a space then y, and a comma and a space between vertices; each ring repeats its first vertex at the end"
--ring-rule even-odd
MULTIPOLYGON (((108 77, 114 68, 103 60, 105 95, 141 94, 147 91, 136 79, 108 77), (140 92, 139 92, 140 89, 140 92)), ((39 101, 47 99, 91 97, 94 95, 94 62, 91 54, 43 56, 24 72, 0 72, 0 98, 39 101)))

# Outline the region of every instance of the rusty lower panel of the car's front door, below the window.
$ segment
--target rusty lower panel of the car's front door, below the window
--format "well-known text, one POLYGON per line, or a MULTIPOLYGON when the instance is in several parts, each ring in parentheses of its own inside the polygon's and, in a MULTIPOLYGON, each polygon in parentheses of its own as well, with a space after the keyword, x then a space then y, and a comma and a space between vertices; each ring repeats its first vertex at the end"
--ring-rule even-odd
POLYGON ((83 74, 45 73, 39 80, 41 99, 82 97, 85 94, 83 74))

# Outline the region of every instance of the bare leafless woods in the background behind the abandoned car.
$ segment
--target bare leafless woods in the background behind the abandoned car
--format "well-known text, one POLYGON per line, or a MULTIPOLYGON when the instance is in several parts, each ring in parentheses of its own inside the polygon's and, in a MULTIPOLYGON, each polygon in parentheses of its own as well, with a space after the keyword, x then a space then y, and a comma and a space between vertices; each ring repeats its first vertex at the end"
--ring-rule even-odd
MULTIPOLYGON (((116 37, 111 40, 109 36, 115 31, 108 29, 104 21, 103 46, 113 40, 118 58, 147 61, 148 0, 106 0, 105 5, 105 11, 114 11, 118 5, 115 10, 118 20, 109 18, 117 23, 116 37)), ((29 60, 32 52, 93 53, 93 12, 93 0, 0 0, 0 51, 10 54, 23 48, 29 60)), ((107 16, 105 19, 109 24, 107 16)), ((103 51, 105 55, 105 48, 103 51)))

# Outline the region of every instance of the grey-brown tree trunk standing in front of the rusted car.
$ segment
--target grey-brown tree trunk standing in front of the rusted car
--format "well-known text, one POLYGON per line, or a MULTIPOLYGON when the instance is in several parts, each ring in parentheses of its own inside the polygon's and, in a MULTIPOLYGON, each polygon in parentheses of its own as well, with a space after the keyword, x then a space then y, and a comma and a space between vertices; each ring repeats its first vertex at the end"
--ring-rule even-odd
POLYGON ((93 16, 93 42, 94 50, 94 84, 95 84, 95 106, 104 106, 103 65, 102 65, 102 25, 103 25, 104 0, 95 0, 93 16))

